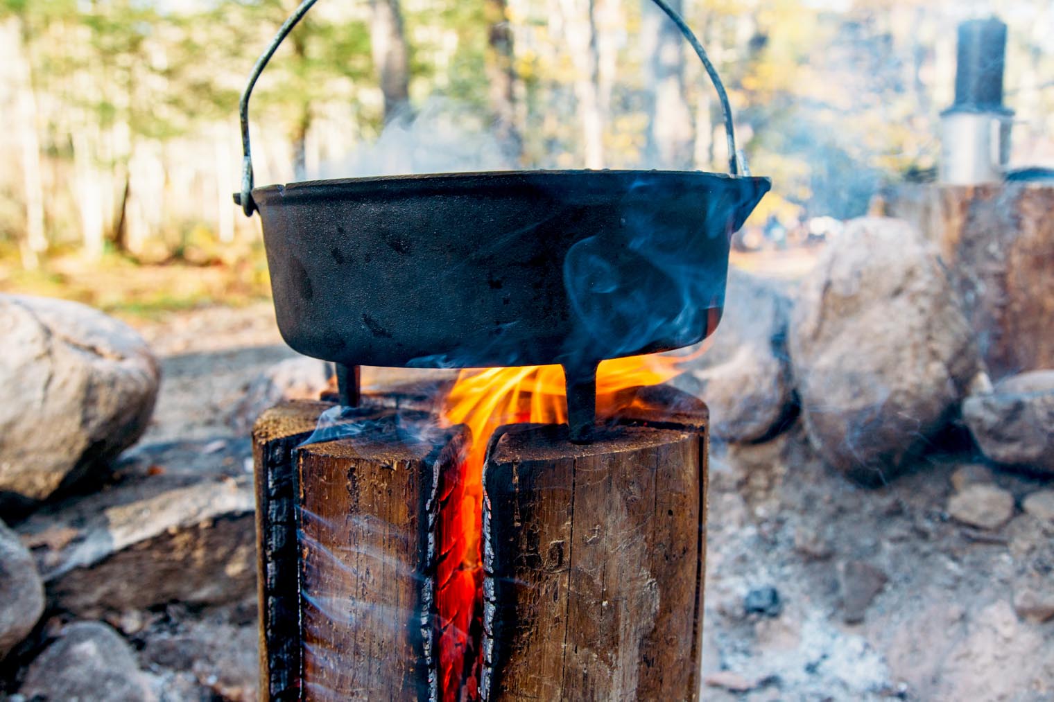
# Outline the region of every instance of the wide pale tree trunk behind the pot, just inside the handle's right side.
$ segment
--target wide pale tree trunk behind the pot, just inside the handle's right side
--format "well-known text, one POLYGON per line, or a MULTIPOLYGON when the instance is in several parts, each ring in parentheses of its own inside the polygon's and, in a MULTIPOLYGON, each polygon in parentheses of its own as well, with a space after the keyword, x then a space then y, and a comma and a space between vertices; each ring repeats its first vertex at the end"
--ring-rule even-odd
MULTIPOLYGON (((681 0, 670 0, 677 12, 681 0)), ((695 160, 695 126, 684 97, 684 38, 669 18, 651 0, 644 0, 641 41, 648 86, 647 165, 690 169, 695 160)))

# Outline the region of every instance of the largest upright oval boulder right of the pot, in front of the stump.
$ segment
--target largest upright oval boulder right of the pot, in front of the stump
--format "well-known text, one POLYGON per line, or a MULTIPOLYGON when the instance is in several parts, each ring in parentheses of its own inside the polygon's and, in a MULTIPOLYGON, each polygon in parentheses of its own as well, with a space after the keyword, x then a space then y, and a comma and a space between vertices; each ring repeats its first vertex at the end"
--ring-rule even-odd
POLYGON ((866 484, 941 429, 979 372, 933 246, 895 219, 848 223, 802 284, 790 360, 811 442, 866 484))

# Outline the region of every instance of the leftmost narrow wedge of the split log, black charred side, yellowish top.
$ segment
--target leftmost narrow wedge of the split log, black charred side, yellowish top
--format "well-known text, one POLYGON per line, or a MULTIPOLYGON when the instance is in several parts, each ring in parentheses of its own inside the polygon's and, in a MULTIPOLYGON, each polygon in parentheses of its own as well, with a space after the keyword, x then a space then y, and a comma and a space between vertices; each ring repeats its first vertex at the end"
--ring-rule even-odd
POLYGON ((292 454, 329 407, 326 403, 281 405, 261 414, 253 428, 264 702, 300 699, 297 485, 292 454))

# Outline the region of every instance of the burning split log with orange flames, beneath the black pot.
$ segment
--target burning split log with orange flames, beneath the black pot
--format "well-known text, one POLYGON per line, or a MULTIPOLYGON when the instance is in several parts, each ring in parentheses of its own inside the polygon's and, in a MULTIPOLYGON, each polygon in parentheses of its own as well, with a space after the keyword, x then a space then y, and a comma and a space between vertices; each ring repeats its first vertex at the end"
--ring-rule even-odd
POLYGON ((603 364, 588 444, 548 366, 265 413, 271 699, 694 698, 707 413, 648 385, 690 357, 603 364))

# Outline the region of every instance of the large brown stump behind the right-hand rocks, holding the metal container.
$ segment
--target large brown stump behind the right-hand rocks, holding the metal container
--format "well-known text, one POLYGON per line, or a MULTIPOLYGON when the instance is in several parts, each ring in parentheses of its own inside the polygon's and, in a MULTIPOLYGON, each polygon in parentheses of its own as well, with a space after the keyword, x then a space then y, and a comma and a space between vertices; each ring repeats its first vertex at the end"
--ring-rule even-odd
POLYGON ((939 247, 993 379, 1054 368, 1054 188, 904 187, 890 208, 939 247))

